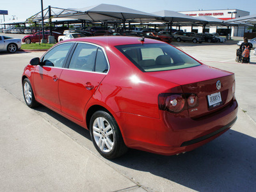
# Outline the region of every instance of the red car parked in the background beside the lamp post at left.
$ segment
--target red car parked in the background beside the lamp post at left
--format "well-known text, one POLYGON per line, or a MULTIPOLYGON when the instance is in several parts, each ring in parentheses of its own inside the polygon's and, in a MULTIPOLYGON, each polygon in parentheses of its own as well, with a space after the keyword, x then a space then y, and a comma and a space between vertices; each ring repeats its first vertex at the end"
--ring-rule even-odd
MULTIPOLYGON (((48 36, 50 35, 50 31, 45 31, 45 39, 48 39, 48 36)), ((58 36, 61 35, 61 33, 58 32, 54 32, 52 31, 52 35, 55 38, 55 42, 58 42, 58 36)), ((43 32, 38 32, 35 33, 33 35, 26 35, 24 36, 24 38, 22 38, 22 42, 26 43, 26 44, 31 44, 31 43, 36 43, 36 42, 40 42, 43 38, 43 32)))

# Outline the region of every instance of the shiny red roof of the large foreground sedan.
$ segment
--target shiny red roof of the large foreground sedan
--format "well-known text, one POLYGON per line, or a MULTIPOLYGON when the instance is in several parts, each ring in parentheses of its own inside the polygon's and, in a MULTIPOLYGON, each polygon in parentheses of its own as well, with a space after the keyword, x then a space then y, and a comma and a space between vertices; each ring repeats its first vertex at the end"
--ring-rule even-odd
MULTIPOLYGON (((92 44, 97 44, 102 47, 116 46, 116 45, 132 45, 141 44, 139 36, 90 36, 84 38, 75 38, 72 40, 67 40, 65 42, 88 42, 92 44)), ((145 38, 143 44, 165 44, 164 42, 157 41, 150 38, 145 38)))

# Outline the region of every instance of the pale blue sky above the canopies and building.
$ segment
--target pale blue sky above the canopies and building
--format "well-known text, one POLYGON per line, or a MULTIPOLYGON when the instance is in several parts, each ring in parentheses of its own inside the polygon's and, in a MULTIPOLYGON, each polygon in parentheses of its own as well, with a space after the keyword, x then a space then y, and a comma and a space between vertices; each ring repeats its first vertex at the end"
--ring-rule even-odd
MULTIPOLYGON (((161 10, 179 11, 195 11, 195 10, 226 10, 237 9, 250 12, 250 15, 256 14, 256 1, 238 0, 43 0, 44 8, 49 5, 58 8, 84 8, 97 4, 116 4, 139 10, 141 12, 157 12, 161 10)), ((1 0, 0 10, 8 10, 8 15, 4 15, 4 19, 28 19, 32 15, 41 11, 41 0, 1 0), (15 15, 15 16, 13 16, 15 15)), ((3 21, 3 15, 0 15, 0 22, 3 21)))

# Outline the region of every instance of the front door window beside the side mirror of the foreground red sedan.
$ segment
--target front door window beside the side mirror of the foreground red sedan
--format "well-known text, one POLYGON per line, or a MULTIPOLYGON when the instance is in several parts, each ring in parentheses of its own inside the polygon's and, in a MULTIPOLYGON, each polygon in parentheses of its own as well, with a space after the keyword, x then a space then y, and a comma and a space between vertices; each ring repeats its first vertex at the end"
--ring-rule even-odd
POLYGON ((64 60, 72 44, 60 44, 45 54, 42 63, 45 66, 63 67, 64 60))

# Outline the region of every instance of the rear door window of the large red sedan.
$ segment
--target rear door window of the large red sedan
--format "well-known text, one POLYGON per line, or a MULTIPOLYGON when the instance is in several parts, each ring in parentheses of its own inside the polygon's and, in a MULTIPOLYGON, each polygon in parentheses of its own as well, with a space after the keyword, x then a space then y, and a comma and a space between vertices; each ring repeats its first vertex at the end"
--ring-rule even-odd
POLYGON ((78 44, 69 67, 71 69, 93 71, 98 47, 90 44, 78 44))

